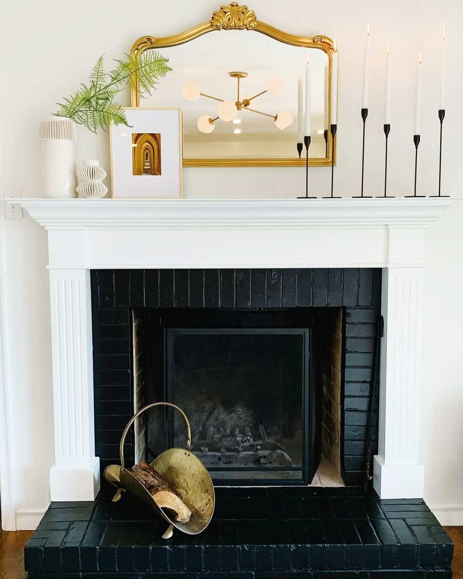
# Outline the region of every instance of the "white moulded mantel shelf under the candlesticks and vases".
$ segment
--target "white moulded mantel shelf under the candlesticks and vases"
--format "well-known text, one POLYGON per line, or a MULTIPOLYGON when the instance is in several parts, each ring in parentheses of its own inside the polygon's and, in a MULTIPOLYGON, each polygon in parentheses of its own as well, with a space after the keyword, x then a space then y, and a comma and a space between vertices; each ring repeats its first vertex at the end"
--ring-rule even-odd
POLYGON ((425 227, 455 199, 9 199, 47 229, 425 227))

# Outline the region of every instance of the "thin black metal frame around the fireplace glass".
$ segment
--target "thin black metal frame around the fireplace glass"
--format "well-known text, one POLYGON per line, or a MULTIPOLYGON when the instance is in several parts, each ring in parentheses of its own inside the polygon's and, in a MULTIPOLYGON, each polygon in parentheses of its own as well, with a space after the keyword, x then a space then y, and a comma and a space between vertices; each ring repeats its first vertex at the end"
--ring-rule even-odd
MULTIPOLYGON (((302 368, 302 384, 301 384, 301 402, 302 402, 302 424, 303 424, 303 440, 302 440, 302 466, 301 467, 238 467, 233 469, 229 467, 208 467, 214 480, 214 472, 277 472, 277 471, 293 471, 301 473, 301 476, 295 478, 220 478, 215 480, 215 485, 218 486, 244 486, 244 485, 285 485, 297 486, 307 485, 313 478, 313 465, 310 457, 310 424, 315 417, 315 408, 310 404, 310 390, 313 387, 313 380, 311 380, 311 356, 312 347, 312 329, 311 328, 166 328, 164 330, 164 393, 168 402, 174 402, 174 393, 172 391, 172 375, 173 375, 173 347, 174 338, 179 335, 301 335, 303 336, 303 368, 302 368)), ((167 409, 167 420, 165 424, 165 440, 167 447, 174 445, 174 412, 172 409, 167 409)), ((316 458, 316 457, 314 457, 316 458)))

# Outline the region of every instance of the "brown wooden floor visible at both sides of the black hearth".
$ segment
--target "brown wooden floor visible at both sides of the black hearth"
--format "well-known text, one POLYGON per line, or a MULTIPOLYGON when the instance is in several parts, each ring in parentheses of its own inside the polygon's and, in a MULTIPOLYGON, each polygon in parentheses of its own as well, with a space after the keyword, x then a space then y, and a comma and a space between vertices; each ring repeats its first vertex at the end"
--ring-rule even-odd
MULTIPOLYGON (((453 579, 463 579, 463 527, 445 527, 455 543, 453 579)), ((24 579, 24 544, 32 531, 0 530, 0 579, 24 579)))

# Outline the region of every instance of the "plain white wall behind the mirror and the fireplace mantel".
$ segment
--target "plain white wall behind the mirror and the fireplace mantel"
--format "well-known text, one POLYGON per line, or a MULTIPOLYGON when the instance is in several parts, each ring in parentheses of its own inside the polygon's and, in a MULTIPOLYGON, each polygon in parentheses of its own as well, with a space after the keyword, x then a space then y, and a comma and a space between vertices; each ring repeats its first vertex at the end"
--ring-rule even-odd
MULTIPOLYGON (((0 178, 3 196, 40 197, 38 124, 54 103, 78 87, 95 60, 128 52, 142 34, 168 35, 210 19, 221 2, 214 0, 81 0, 71 10, 57 0, 3 3, 0 18, 2 54, 0 178)), ((461 0, 254 0, 260 20, 299 34, 336 38, 340 51, 340 102, 336 189, 359 192, 361 152, 361 77, 363 37, 372 27, 370 115, 365 186, 380 195, 383 184, 383 81, 385 47, 391 42, 392 131, 389 192, 410 194, 413 186, 413 103, 417 54, 424 51, 420 181, 422 194, 436 188, 439 31, 448 29, 447 118, 443 187, 461 196, 457 111, 463 90, 463 4, 461 0), (453 73, 453 74, 452 74, 453 73)), ((225 34, 225 33, 224 33, 225 34)), ((250 42, 253 33, 247 34, 250 42)), ((127 94, 122 97, 128 104, 127 94)), ((108 135, 79 130, 78 159, 99 158, 109 172, 108 135)), ((318 194, 328 192, 329 170, 311 170, 318 194)), ((108 179, 109 181, 109 179, 108 179)), ((300 168, 189 168, 186 197, 295 197, 303 190, 300 168)), ((109 185, 109 182, 108 182, 109 185)), ((374 202, 374 201, 372 201, 374 202)), ((425 360, 422 456, 425 499, 438 505, 444 522, 463 523, 463 356, 462 331, 463 207, 450 210, 428 234, 429 270, 425 295, 425 360), (449 507, 448 509, 446 507, 449 507), (443 519, 446 517, 446 519, 443 519)), ((53 463, 52 382, 46 233, 30 218, 2 217, 3 290, 8 313, 3 328, 8 362, 12 504, 19 528, 34 526, 49 500, 53 463), (32 482, 32 483, 31 483, 32 482)), ((3 398, 0 397, 0 404, 3 398)), ((3 435, 3 434, 2 434, 3 435)), ((1 446, 0 446, 1 449, 1 446)), ((1 473, 6 481, 5 473, 1 473)), ((4 525, 8 514, 2 513, 4 525)))

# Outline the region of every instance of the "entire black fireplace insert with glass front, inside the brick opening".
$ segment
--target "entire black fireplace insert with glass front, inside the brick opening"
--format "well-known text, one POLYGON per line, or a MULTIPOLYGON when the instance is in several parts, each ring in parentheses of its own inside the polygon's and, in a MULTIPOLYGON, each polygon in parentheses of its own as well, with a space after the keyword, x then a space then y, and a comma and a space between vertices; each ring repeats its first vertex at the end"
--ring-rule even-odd
MULTIPOLYGON (((192 427, 192 450, 216 484, 307 484, 320 460, 317 379, 309 310, 135 310, 137 408, 167 400, 192 427), (297 327, 302 323, 303 327, 297 327), (186 327, 183 327, 185 326, 186 327), (314 444, 310 446, 311 438, 314 444)), ((167 410, 138 430, 139 458, 182 446, 167 410), (145 441, 140 444, 140 433, 145 441), (143 436, 143 434, 141 434, 143 436)))

